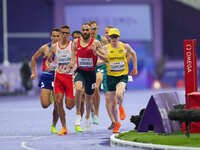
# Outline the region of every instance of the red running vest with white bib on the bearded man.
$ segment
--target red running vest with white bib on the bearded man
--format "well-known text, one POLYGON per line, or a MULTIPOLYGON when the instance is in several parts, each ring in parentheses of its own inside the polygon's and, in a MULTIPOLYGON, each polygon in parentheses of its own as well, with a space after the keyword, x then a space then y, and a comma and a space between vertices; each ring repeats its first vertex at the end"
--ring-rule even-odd
POLYGON ((94 39, 90 40, 90 43, 86 47, 82 47, 80 44, 80 38, 77 43, 77 68, 81 70, 95 70, 97 63, 97 56, 94 55, 93 50, 90 49, 94 39))

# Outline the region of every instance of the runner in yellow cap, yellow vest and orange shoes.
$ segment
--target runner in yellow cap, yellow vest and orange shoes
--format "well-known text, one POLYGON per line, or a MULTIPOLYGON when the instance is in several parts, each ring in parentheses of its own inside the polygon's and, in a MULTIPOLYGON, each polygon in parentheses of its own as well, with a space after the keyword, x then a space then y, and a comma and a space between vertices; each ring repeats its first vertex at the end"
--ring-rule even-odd
POLYGON ((110 44, 104 46, 108 55, 107 68, 107 88, 108 88, 108 110, 112 110, 111 120, 114 120, 113 133, 119 133, 121 126, 118 120, 117 104, 119 104, 120 120, 126 118, 126 114, 123 107, 124 91, 126 83, 128 81, 128 62, 127 53, 132 56, 134 69, 131 71, 131 75, 137 75, 137 56, 135 51, 129 46, 119 41, 120 31, 117 28, 112 28, 109 31, 110 44))

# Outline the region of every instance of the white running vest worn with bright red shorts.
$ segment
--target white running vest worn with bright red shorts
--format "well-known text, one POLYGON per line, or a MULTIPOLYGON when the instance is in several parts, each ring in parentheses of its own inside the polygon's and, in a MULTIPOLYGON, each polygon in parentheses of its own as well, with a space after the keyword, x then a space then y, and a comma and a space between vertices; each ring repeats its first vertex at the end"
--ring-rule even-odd
POLYGON ((68 66, 72 58, 72 42, 69 41, 65 48, 60 48, 59 42, 56 43, 56 72, 61 74, 72 74, 73 70, 68 66))

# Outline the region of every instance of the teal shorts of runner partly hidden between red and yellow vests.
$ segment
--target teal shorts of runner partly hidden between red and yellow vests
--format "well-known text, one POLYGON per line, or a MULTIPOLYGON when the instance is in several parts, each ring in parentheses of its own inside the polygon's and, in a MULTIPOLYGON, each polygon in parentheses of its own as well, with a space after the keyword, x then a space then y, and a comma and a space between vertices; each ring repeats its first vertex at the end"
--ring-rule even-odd
POLYGON ((102 84, 103 84, 103 92, 106 93, 108 91, 107 88, 107 83, 106 83, 106 78, 107 78, 107 70, 106 70, 106 64, 104 63, 103 65, 100 66, 95 66, 95 72, 102 72, 103 73, 103 80, 102 80, 102 84))

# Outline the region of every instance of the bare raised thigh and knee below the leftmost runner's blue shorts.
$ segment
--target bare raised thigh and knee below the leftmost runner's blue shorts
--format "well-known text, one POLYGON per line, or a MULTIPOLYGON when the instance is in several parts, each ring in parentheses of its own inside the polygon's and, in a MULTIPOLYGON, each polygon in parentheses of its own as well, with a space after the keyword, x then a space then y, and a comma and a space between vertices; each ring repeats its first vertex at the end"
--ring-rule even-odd
POLYGON ((40 90, 40 102, 43 108, 47 108, 49 107, 49 105, 51 104, 51 90, 50 89, 45 89, 42 88, 40 90))

